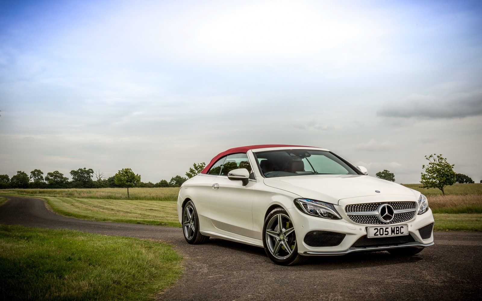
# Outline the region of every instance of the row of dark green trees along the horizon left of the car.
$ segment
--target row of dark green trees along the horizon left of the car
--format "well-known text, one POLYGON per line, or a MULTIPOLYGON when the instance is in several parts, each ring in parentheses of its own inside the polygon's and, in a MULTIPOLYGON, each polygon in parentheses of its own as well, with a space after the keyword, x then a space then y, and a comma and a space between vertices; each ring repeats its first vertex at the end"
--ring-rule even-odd
POLYGON ((91 168, 79 168, 77 170, 70 170, 71 180, 58 170, 47 172, 45 176, 43 171, 39 169, 30 171, 30 175, 25 171, 19 170, 12 178, 7 174, 0 174, 0 189, 180 187, 188 178, 201 172, 205 166, 206 164, 204 162, 199 164, 194 163, 193 167, 189 168, 186 172, 187 178, 176 175, 172 177, 170 181, 161 180, 157 183, 141 182, 141 176, 134 174, 129 168, 119 170, 115 175, 108 178, 104 177, 103 172, 95 172, 91 168))

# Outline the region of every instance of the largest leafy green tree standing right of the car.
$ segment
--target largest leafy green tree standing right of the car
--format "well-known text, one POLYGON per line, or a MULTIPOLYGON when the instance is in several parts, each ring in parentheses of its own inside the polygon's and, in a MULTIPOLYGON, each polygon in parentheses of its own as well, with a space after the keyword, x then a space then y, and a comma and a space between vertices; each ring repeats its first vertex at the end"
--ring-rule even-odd
POLYGON ((428 165, 422 165, 425 173, 421 173, 420 188, 438 188, 442 190, 442 195, 445 195, 443 188, 455 184, 454 164, 447 162, 447 159, 442 155, 425 156, 428 160, 428 165), (436 157, 435 157, 436 156, 436 157))

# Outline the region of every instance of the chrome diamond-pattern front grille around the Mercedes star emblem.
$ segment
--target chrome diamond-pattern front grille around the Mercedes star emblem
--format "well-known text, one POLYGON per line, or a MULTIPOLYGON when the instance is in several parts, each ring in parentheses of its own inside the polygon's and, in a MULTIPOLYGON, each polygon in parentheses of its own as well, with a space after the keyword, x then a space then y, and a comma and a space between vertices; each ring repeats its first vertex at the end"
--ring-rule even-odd
POLYGON ((415 217, 416 202, 380 202, 380 203, 365 203, 353 204, 345 206, 345 212, 348 218, 356 223, 362 224, 392 224, 397 222, 406 222, 415 217), (381 204, 388 204, 395 210, 393 220, 390 222, 381 222, 375 215, 375 211, 381 204), (413 210, 410 212, 396 212, 396 210, 413 210), (350 213, 357 213, 350 214, 350 213), (362 214, 366 213, 366 214, 362 214))

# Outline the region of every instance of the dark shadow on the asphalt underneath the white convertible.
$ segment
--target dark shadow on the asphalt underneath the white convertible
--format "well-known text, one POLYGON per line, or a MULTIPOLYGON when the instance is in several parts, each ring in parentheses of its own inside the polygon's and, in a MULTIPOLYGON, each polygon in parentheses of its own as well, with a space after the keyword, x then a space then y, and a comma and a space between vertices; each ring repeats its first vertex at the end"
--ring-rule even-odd
MULTIPOLYGON (((263 248, 218 238, 211 238, 206 244, 248 253, 253 256, 258 256, 260 260, 266 259, 264 262, 268 262, 268 264, 274 264, 268 259, 263 248)), ((420 256, 420 254, 414 256, 395 256, 388 253, 388 251, 359 251, 342 256, 309 256, 306 262, 289 268, 326 271, 357 269, 419 262, 423 260, 423 252, 421 255, 422 256, 420 256)))

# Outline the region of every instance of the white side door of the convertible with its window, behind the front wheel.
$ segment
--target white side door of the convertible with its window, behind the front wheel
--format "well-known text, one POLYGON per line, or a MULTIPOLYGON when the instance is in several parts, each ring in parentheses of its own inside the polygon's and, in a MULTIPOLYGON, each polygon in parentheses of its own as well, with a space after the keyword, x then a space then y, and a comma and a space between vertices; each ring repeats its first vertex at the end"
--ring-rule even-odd
POLYGON ((253 197, 256 182, 249 181, 243 186, 241 181, 228 179, 228 171, 246 166, 246 154, 232 154, 226 158, 223 169, 211 182, 209 192, 210 219, 220 230, 242 236, 254 237, 253 197))

